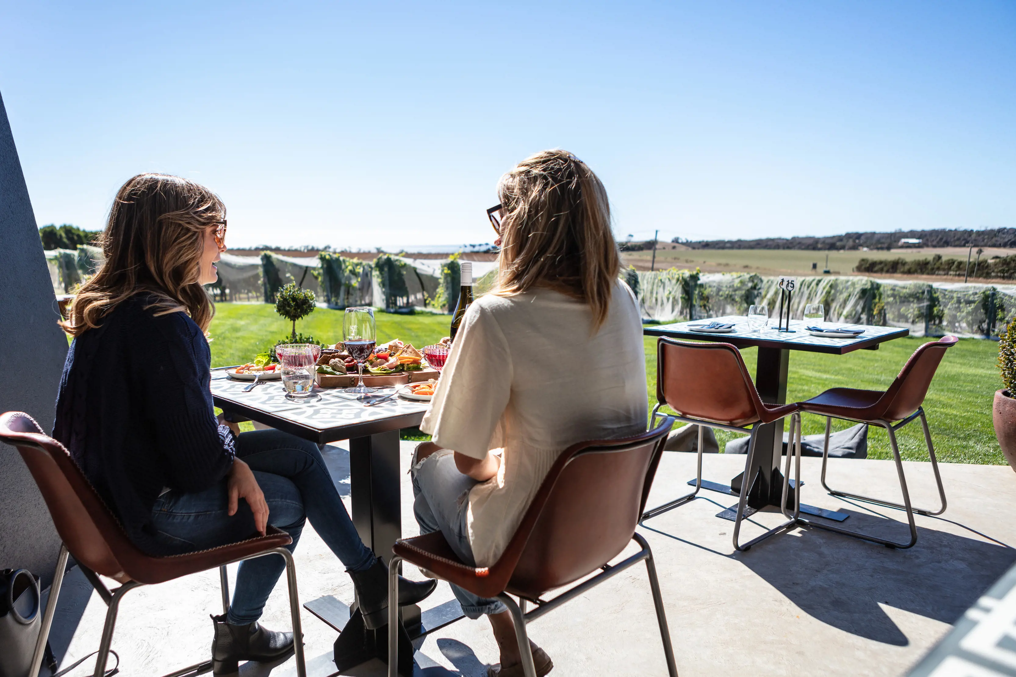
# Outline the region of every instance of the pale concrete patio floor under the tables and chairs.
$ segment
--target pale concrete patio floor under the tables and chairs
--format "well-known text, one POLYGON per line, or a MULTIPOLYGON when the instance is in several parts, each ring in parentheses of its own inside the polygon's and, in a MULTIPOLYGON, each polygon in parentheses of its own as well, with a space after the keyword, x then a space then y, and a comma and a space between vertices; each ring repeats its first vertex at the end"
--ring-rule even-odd
MULTIPOLYGON (((402 443, 407 470, 414 445, 402 443)), ((348 498, 348 455, 326 450, 336 486, 348 498)), ((725 483, 744 457, 706 455, 705 479, 725 483)), ((689 489, 695 456, 668 453, 649 498, 664 502, 689 489)), ((819 483, 819 459, 804 459, 805 503, 850 515, 843 523, 904 539, 901 511, 829 496, 819 483)), ((915 505, 936 504, 931 466, 906 463, 915 505)), ((715 517, 736 497, 703 490, 699 499, 647 522, 640 531, 653 549, 683 677, 697 675, 899 675, 924 656, 996 579, 1016 561, 1016 474, 1008 467, 943 464, 949 499, 944 519, 917 517, 918 541, 893 550, 819 529, 798 528, 748 552, 731 543, 734 523, 715 517)), ((899 500, 888 461, 830 461, 830 485, 899 500), (895 497, 895 498, 894 498, 895 497)), ((407 475, 402 483, 403 534, 418 533, 407 475)), ((762 512, 742 538, 780 520, 762 512)), ((301 602, 332 595, 352 602, 353 586, 335 557, 304 530, 296 552, 301 602)), ((422 578, 407 567, 410 578, 422 578)), ((62 666, 99 647, 105 605, 79 573, 68 577, 54 630, 62 666), (86 606, 84 600, 87 599, 86 606), (75 601, 77 602, 75 604, 75 601), (82 612, 83 609, 83 612, 82 612)), ((442 583, 424 603, 451 600, 442 583)), ((206 659, 211 642, 208 614, 221 610, 218 578, 207 572, 132 591, 121 606, 114 650, 124 675, 161 675, 206 659)), ((303 611, 308 674, 335 672, 336 633, 303 611)), ((276 586, 262 622, 289 629, 284 584, 276 586)), ((561 609, 534 621, 529 636, 553 657, 553 675, 665 675, 663 653, 645 569, 636 565, 561 609)), ((498 660, 485 620, 466 619, 426 637, 417 674, 486 675, 498 660)), ((111 661, 111 666, 113 665, 111 661)), ((91 674, 85 661, 71 675, 91 674)), ((382 674, 380 662, 354 674, 382 674)), ((249 664, 245 677, 296 674, 291 659, 279 666, 249 664)))

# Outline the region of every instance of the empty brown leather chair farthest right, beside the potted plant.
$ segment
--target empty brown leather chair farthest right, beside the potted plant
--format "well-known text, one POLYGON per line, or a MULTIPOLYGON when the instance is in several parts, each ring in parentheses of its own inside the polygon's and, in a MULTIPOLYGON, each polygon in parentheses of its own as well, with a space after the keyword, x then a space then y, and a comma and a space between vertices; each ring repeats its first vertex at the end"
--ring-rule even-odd
POLYGON ((932 433, 928 429, 928 418, 925 416, 925 409, 922 405, 925 402, 928 387, 932 384, 932 379, 935 377, 935 371, 938 369, 942 357, 946 354, 948 348, 956 345, 957 341, 959 339, 955 336, 946 336, 917 348, 910 355, 910 359, 906 361, 903 368, 900 369, 896 380, 892 382, 892 385, 886 391, 832 388, 821 395, 799 403, 802 411, 826 417, 825 448, 822 452, 822 486, 834 496, 856 498, 879 505, 906 511, 907 521, 910 526, 910 540, 906 543, 888 541, 840 527, 820 524, 799 516, 798 522, 800 524, 807 524, 835 531, 839 534, 855 536, 893 548, 909 548, 917 542, 917 527, 913 523, 913 514, 942 515, 945 513, 946 490, 942 485, 942 476, 939 474, 939 463, 935 458, 935 447, 932 445, 932 433), (918 417, 920 418, 922 426, 925 428, 925 443, 928 445, 928 454, 932 459, 932 472, 935 474, 935 481, 939 486, 939 497, 942 500, 942 505, 935 511, 910 505, 910 494, 906 488, 906 477, 903 474, 903 464, 900 461, 899 446, 896 444, 896 430, 918 417), (829 432, 832 429, 833 418, 867 423, 869 425, 881 425, 886 429, 886 432, 889 434, 889 446, 892 448, 893 459, 896 462, 899 487, 903 491, 902 504, 829 488, 826 484, 826 465, 829 461, 829 432))

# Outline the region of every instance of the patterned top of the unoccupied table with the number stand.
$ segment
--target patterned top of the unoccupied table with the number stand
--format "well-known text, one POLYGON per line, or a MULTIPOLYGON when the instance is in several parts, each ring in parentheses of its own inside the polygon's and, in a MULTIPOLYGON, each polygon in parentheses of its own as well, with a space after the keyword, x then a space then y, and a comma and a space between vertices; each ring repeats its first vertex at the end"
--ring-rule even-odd
POLYGON ((878 347, 883 341, 907 336, 910 331, 899 327, 872 327, 869 325, 845 325, 829 323, 834 327, 847 327, 849 329, 864 329, 865 333, 858 338, 829 338, 824 336, 812 336, 805 329, 810 323, 802 320, 791 320, 790 329, 792 333, 776 331, 776 321, 769 320, 769 326, 761 331, 752 331, 748 327, 748 318, 744 316, 728 315, 721 318, 706 318, 704 320, 694 320, 692 322, 677 322, 671 325, 647 325, 643 328, 643 333, 648 336, 671 336, 674 338, 695 339, 699 341, 717 341, 722 343, 733 343, 739 348, 751 346, 762 346, 767 348, 781 348, 784 350, 806 350, 809 352, 826 352, 841 355, 862 348, 878 347), (710 322, 734 323, 734 331, 727 334, 705 334, 695 332, 689 325, 706 325, 710 322))

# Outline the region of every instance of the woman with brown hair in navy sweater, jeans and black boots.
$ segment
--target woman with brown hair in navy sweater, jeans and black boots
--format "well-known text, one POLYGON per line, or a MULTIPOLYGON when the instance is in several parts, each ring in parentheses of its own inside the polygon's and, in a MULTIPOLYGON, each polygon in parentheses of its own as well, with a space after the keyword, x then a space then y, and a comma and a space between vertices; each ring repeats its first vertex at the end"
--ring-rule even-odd
MULTIPOLYGON (((368 627, 385 623, 387 567, 360 540, 313 443, 278 430, 236 433, 216 421, 203 285, 226 250, 226 207, 186 179, 144 174, 117 193, 103 233, 106 262, 81 287, 70 320, 53 436, 81 467, 127 537, 152 555, 289 532, 307 519, 346 566, 368 627)), ((212 666, 274 661, 292 632, 258 625, 281 557, 240 564, 228 614, 213 617, 212 666)), ((436 582, 401 580, 400 605, 436 582)))

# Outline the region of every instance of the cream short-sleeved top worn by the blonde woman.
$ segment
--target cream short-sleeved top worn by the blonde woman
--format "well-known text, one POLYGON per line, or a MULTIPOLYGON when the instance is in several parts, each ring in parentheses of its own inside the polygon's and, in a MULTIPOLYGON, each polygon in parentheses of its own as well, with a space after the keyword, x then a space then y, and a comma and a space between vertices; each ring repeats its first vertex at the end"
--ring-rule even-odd
POLYGON ((465 314, 421 429, 477 459, 503 448, 469 492, 478 566, 497 561, 558 456, 583 439, 639 434, 648 397, 638 301, 618 281, 607 320, 557 291, 488 294, 465 314))

